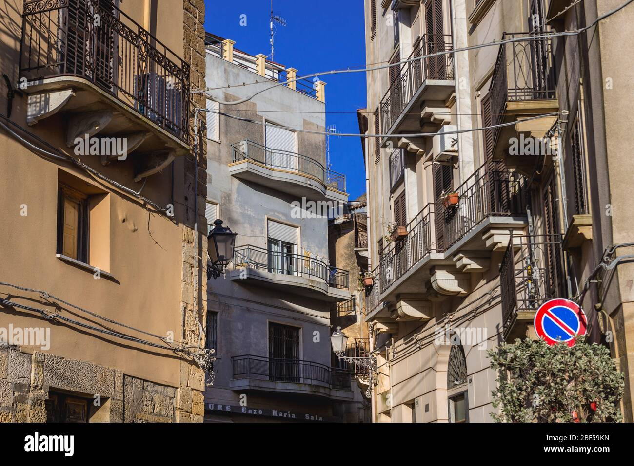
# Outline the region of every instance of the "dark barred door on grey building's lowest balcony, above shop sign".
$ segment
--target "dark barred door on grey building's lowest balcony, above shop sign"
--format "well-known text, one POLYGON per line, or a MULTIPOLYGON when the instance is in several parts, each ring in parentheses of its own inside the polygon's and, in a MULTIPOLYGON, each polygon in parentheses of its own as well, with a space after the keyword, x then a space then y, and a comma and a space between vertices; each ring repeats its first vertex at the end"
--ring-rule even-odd
POLYGON ((299 383, 299 328, 269 322, 269 379, 299 383))

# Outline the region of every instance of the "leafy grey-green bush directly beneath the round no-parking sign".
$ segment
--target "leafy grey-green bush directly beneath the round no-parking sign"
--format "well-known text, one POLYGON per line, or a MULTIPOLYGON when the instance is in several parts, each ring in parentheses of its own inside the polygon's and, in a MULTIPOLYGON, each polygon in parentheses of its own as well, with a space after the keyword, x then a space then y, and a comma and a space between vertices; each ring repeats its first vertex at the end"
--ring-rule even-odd
POLYGON ((517 339, 488 356, 498 372, 496 422, 621 422, 624 375, 605 346, 517 339))

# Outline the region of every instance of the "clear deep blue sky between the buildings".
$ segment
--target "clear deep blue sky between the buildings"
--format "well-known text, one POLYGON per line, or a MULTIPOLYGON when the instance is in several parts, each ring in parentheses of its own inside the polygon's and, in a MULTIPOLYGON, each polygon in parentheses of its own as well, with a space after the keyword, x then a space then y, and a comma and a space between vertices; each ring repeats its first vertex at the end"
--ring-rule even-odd
MULTIPOLYGON (((269 0, 205 0, 205 29, 236 41, 236 47, 250 54, 271 53, 269 45, 269 0), (247 15, 247 26, 240 25, 247 15)), ((299 70, 299 75, 358 67, 365 64, 363 1, 273 0, 275 13, 287 21, 277 25, 274 60, 299 70)), ((356 110, 365 108, 365 73, 345 73, 324 77, 327 125, 338 132, 359 132, 356 110)), ((346 175, 350 199, 365 191, 361 141, 358 137, 331 137, 332 169, 346 175)))

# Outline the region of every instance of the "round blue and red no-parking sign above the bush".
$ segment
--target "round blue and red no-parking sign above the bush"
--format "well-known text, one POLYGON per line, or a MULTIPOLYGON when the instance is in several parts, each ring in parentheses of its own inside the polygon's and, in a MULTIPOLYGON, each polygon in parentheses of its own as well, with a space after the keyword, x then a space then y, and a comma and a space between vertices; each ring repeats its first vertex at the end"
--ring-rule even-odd
POLYGON ((569 299, 546 301, 535 313, 535 332, 547 344, 566 343, 574 346, 574 337, 586 334, 586 315, 569 299))

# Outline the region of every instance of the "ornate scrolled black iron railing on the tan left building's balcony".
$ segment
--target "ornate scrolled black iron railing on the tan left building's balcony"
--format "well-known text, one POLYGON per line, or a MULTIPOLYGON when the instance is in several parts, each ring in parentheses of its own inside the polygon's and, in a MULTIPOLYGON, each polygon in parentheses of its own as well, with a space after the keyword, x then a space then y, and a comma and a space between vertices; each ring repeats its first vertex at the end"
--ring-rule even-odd
POLYGON ((189 65, 113 5, 25 2, 18 68, 29 82, 61 76, 87 80, 189 141, 189 65))

